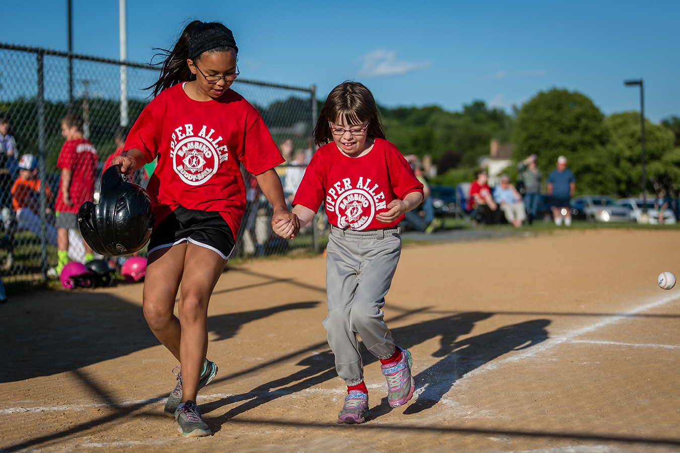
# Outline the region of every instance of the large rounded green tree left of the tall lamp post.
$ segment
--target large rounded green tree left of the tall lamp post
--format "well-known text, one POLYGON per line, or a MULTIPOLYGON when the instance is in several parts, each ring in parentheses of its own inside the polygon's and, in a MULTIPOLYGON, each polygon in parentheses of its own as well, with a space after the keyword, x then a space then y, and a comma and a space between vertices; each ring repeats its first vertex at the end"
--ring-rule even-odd
POLYGON ((539 92, 517 114, 513 158, 536 154, 539 168, 547 174, 555 168, 558 156, 566 156, 577 179, 577 192, 583 193, 587 186, 579 188, 579 181, 588 179, 588 173, 598 173, 598 156, 608 139, 605 115, 588 96, 553 88, 539 92))

